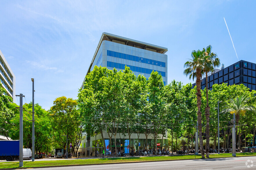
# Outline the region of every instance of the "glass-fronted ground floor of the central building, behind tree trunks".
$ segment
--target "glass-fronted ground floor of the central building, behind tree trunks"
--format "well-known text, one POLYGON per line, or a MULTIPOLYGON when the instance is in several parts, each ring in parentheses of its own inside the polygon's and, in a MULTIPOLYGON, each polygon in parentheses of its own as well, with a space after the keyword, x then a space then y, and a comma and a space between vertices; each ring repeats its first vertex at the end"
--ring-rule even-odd
MULTIPOLYGON (((168 139, 167 134, 164 136, 162 134, 158 135, 157 138, 157 149, 168 149, 168 139)), ((115 139, 114 137, 109 139, 107 133, 103 134, 106 147, 104 148, 103 139, 101 134, 96 136, 90 136, 90 140, 87 140, 87 143, 82 143, 78 151, 80 151, 80 156, 95 156, 95 152, 98 151, 98 156, 102 156, 104 150, 105 156, 113 154, 115 149, 115 139), (112 148, 112 150, 111 150, 112 148)), ((144 149, 155 149, 155 139, 153 134, 149 134, 146 140, 145 134, 131 134, 129 139, 128 134, 117 134, 116 137, 116 147, 117 152, 124 152, 129 154, 132 150, 144 150, 144 149)))

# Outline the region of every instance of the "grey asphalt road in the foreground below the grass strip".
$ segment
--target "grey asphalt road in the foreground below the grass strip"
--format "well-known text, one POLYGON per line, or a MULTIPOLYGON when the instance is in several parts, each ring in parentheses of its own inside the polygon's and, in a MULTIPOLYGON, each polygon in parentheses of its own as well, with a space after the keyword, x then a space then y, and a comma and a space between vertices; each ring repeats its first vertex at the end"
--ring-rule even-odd
POLYGON ((128 163, 128 164, 111 164, 111 165, 88 165, 88 166, 73 166, 73 167, 56 167, 56 168, 39 168, 38 170, 102 170, 102 169, 182 169, 182 170, 244 170, 256 169, 256 156, 239 157, 239 158, 215 158, 206 160, 178 160, 178 161, 163 161, 163 162, 143 162, 143 163, 128 163), (249 160, 249 161, 248 161, 249 160), (247 162, 247 164, 246 164, 247 162), (249 167, 247 167, 248 165, 249 167))

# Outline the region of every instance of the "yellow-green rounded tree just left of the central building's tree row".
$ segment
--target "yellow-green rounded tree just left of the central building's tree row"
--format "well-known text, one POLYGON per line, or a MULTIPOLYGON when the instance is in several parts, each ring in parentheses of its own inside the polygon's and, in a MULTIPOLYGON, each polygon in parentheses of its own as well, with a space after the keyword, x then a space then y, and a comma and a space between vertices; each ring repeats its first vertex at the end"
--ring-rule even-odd
POLYGON ((63 135, 67 135, 69 143, 72 143, 73 155, 75 155, 74 151, 77 151, 84 132, 77 110, 77 101, 65 96, 58 97, 53 101, 49 113, 56 147, 66 148, 66 136, 63 135))

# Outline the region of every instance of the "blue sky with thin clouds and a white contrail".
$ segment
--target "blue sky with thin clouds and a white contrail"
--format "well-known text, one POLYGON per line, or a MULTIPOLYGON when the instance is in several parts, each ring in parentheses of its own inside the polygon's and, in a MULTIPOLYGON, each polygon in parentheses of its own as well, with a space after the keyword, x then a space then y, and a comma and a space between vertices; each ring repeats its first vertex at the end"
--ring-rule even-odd
MULTIPOLYGON (((221 63, 256 63, 256 1, 0 1, 0 50, 16 76, 16 94, 48 110, 77 99, 102 32, 167 47, 168 83, 183 75, 192 50, 212 45, 221 63)), ((25 101, 25 102, 26 102, 25 101)), ((16 99, 16 103, 17 99, 16 99)))

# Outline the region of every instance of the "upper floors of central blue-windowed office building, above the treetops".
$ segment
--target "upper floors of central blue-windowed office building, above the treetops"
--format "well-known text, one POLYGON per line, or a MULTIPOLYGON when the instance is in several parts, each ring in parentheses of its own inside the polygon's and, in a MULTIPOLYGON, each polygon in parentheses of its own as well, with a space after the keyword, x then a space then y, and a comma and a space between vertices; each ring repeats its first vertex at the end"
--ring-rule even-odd
POLYGON ((166 52, 167 48, 165 47, 104 32, 93 55, 87 74, 93 70, 95 65, 107 67, 111 70, 116 68, 118 71, 125 69, 126 65, 130 67, 135 75, 142 74, 147 79, 153 70, 158 71, 166 85, 166 52))

